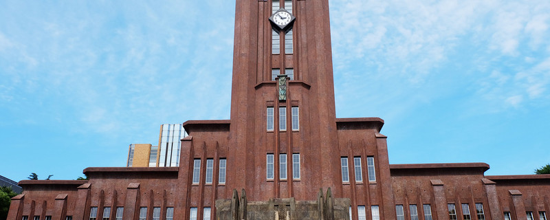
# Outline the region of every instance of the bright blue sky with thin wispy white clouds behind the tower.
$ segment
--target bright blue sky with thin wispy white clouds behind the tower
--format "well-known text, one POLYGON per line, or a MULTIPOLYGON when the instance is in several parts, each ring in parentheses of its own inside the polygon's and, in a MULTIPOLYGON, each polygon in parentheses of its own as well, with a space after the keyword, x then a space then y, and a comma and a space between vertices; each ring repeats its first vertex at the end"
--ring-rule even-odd
MULTIPOLYGON (((550 1, 330 10, 337 116, 384 119, 392 164, 550 162, 550 1)), ((0 0, 0 175, 76 179, 160 124, 229 119, 233 28, 227 0, 0 0)))

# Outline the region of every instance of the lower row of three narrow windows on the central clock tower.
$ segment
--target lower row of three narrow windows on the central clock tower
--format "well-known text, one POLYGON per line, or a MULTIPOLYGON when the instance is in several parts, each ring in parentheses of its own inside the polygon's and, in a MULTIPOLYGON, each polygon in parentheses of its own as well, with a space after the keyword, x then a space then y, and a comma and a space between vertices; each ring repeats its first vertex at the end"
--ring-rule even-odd
MULTIPOLYGON (((275 176, 275 155, 272 153, 267 154, 267 166, 266 166, 267 179, 274 179, 275 176)), ((279 179, 287 179, 287 154, 279 154, 279 179)), ((300 179, 300 153, 292 154, 292 179, 300 179)))

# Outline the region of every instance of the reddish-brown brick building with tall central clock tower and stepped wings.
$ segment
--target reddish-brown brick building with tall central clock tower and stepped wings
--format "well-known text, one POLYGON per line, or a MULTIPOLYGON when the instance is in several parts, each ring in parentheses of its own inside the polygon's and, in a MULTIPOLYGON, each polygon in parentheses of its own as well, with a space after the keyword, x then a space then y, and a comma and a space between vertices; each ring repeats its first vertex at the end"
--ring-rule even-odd
POLYGON ((550 175, 389 164, 384 120, 336 118, 328 5, 236 0, 230 120, 184 122, 176 167, 20 181, 8 219, 546 219, 550 175))

